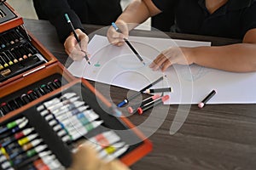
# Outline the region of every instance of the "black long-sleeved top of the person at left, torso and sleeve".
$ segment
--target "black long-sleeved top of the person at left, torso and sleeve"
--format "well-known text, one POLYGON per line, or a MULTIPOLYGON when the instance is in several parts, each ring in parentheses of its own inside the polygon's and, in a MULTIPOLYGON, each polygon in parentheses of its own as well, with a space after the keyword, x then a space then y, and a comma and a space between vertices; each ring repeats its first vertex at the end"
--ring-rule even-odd
POLYGON ((64 14, 68 14, 75 29, 84 31, 83 24, 109 26, 122 13, 120 0, 33 0, 41 20, 55 26, 61 42, 70 35, 64 14))

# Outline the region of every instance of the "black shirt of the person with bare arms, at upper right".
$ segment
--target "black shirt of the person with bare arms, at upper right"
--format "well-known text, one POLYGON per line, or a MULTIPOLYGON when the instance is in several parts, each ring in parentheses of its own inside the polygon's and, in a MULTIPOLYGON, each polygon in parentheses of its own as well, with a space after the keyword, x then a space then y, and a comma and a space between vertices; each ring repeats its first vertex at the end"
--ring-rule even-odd
POLYGON ((241 39, 248 30, 256 28, 256 0, 229 0, 212 14, 205 0, 153 0, 153 3, 164 12, 174 8, 175 24, 171 31, 241 39))

